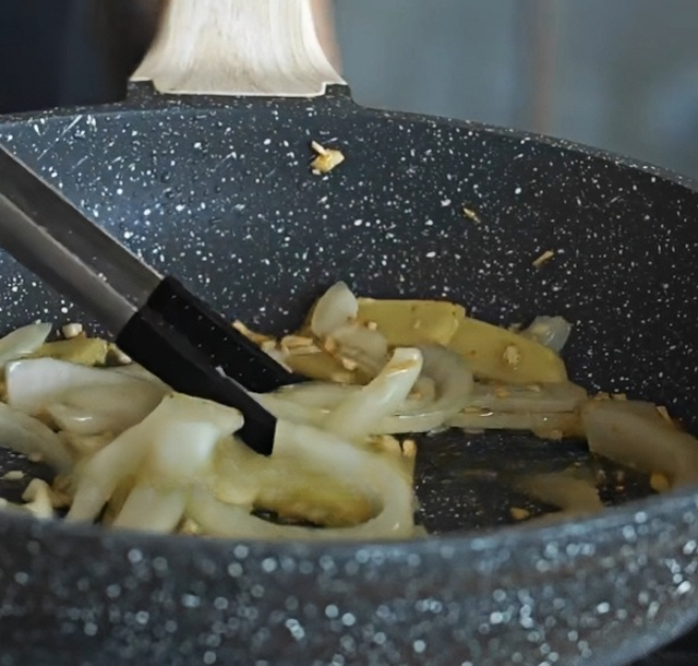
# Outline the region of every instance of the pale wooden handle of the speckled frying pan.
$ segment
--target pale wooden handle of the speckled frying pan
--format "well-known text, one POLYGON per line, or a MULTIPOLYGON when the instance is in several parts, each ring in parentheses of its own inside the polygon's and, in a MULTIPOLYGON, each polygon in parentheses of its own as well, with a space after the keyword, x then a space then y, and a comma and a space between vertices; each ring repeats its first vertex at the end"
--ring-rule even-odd
POLYGON ((312 0, 169 0, 132 81, 160 93, 312 97, 344 84, 312 0))

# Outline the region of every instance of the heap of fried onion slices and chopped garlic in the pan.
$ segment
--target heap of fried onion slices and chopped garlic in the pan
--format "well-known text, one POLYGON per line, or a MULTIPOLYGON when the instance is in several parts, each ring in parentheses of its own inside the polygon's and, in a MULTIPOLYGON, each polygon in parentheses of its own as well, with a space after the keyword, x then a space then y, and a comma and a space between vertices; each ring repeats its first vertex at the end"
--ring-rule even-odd
MULTIPOLYGON (((443 428, 581 437, 652 474, 658 490, 698 481, 698 441, 654 405, 590 397, 568 381, 563 318, 519 333, 450 302, 357 298, 338 283, 290 335, 234 325, 315 380, 254 396, 279 419, 269 457, 236 438, 236 409, 173 393, 80 325, 53 342, 43 323, 1 338, 2 443, 58 474, 2 509, 241 538, 417 536, 416 445, 396 436, 443 428)), ((600 510, 593 484, 575 474, 525 477, 516 489, 561 515, 600 510)))

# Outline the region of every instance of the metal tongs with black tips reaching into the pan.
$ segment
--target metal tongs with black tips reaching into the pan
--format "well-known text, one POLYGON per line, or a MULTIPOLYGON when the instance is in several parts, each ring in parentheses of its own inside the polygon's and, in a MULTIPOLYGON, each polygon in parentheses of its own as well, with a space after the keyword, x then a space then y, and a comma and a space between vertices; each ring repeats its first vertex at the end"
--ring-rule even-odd
POLYGON ((176 391, 236 407, 257 453, 276 419, 249 392, 302 381, 171 276, 163 276, 0 147, 0 246, 91 312, 176 391))

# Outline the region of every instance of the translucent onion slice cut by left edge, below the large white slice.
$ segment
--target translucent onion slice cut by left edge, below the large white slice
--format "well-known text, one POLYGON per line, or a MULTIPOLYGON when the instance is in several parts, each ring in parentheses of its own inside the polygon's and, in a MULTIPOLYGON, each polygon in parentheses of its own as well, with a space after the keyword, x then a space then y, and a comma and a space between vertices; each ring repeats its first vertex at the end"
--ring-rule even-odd
POLYGON ((39 454, 59 473, 73 466, 73 460, 58 435, 41 421, 16 412, 0 402, 0 432, 2 445, 24 455, 39 454))

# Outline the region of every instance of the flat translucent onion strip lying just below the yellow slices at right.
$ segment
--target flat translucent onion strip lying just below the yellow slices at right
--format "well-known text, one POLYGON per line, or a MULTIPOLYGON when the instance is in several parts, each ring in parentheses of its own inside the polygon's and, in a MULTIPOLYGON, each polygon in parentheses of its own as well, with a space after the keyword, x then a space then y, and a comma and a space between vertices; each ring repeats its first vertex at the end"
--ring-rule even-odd
POLYGON ((587 392, 571 382, 532 385, 474 384, 468 407, 492 412, 547 413, 574 412, 587 392))

